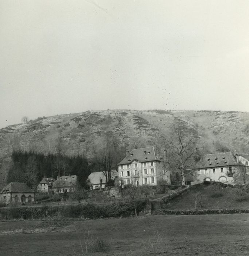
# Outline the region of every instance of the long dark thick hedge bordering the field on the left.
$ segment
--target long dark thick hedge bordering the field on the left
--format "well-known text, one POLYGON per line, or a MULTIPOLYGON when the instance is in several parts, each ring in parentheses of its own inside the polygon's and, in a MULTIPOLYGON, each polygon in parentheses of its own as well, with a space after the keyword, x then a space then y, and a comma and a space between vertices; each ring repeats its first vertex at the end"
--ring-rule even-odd
MULTIPOLYGON (((137 212, 146 207, 147 202, 137 202, 137 212)), ((111 204, 77 204, 62 206, 41 206, 41 207, 5 207, 0 208, 0 219, 43 219, 47 217, 66 218, 118 218, 134 215, 134 208, 128 203, 111 204)))

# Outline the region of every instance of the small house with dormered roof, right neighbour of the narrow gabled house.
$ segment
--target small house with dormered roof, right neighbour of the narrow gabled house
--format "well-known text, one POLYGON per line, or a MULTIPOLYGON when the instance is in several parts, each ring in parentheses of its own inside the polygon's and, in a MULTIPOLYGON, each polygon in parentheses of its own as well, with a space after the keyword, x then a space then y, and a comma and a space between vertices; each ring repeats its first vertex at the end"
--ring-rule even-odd
POLYGON ((59 194, 72 192, 75 189, 76 181, 76 175, 61 176, 53 183, 52 189, 59 194))

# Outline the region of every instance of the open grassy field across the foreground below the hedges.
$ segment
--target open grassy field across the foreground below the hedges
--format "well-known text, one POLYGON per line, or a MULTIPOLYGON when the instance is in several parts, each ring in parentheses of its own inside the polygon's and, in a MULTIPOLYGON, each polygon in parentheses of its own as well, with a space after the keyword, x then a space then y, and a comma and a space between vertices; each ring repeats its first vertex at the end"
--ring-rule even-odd
POLYGON ((0 254, 248 255, 248 227, 248 214, 0 222, 0 254))

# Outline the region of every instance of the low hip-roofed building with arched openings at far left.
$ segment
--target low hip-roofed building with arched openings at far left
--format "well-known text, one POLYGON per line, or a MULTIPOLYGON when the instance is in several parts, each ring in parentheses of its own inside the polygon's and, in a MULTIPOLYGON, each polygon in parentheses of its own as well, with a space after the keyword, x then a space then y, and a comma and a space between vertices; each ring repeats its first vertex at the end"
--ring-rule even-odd
POLYGON ((1 200, 4 203, 31 203, 35 201, 35 191, 23 182, 10 182, 0 192, 1 200))

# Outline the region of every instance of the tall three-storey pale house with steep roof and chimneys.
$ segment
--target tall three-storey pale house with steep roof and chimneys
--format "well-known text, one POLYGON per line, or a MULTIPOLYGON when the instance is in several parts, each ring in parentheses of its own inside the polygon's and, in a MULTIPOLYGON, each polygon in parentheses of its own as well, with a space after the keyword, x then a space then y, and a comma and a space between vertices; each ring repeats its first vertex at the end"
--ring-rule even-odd
POLYGON ((118 176, 122 184, 157 185, 159 181, 170 184, 170 172, 164 167, 165 159, 166 150, 164 157, 160 157, 156 146, 136 148, 131 152, 127 150, 125 158, 118 163, 118 176))

